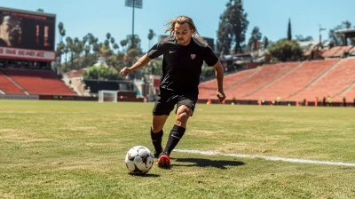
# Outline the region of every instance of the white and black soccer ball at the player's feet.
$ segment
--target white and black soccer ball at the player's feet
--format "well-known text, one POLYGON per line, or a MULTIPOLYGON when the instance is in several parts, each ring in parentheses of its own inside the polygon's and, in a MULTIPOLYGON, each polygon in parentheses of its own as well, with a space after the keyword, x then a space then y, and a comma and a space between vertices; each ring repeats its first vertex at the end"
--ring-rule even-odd
POLYGON ((147 147, 136 146, 127 152, 125 163, 133 174, 145 174, 153 167, 153 155, 147 147))

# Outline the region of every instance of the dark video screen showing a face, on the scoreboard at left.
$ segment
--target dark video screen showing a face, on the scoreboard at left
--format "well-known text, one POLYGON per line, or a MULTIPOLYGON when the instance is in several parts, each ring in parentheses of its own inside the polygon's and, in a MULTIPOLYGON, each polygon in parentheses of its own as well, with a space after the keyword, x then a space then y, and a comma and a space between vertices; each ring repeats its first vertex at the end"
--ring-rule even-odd
POLYGON ((55 16, 0 8, 0 46, 54 51, 55 16))

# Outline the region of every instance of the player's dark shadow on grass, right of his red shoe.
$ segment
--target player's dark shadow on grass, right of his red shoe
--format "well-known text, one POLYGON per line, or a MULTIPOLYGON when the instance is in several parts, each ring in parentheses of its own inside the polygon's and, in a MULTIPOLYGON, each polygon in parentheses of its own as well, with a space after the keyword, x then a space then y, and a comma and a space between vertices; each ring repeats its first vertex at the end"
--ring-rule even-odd
POLYGON ((216 167, 218 169, 225 170, 227 169, 225 166, 241 166, 245 163, 239 161, 226 161, 226 160, 209 160, 203 158, 177 158, 175 160, 177 163, 193 163, 193 164, 174 164, 173 166, 185 166, 185 167, 216 167))

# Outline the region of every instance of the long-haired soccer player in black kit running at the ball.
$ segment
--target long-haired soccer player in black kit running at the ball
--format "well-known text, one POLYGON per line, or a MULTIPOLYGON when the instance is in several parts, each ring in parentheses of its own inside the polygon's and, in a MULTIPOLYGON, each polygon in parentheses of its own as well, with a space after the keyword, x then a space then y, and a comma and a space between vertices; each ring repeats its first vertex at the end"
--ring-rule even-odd
POLYGON ((215 68, 217 76, 217 98, 225 100, 223 91, 224 71, 222 64, 209 44, 194 37, 199 35, 193 20, 187 16, 178 16, 167 23, 170 37, 155 44, 132 67, 122 68, 121 75, 145 67, 150 60, 163 55, 160 93, 153 108, 151 138, 154 156, 162 168, 170 167, 170 153, 185 134, 186 123, 198 98, 201 67, 203 61, 215 68), (175 125, 170 131, 166 147, 162 148, 162 129, 170 112, 177 105, 175 125))

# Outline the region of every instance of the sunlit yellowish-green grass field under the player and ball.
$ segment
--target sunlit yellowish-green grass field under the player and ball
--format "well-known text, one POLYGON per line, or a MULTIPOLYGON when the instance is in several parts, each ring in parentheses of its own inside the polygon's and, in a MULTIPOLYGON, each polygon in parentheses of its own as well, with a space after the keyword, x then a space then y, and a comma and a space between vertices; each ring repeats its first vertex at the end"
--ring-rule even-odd
MULTIPOLYGON (((355 167, 154 151, 153 103, 0 100, 0 198, 355 198, 355 167)), ((355 108, 197 105, 177 149, 355 163, 355 108)), ((174 123, 164 128, 163 144, 174 123)))

